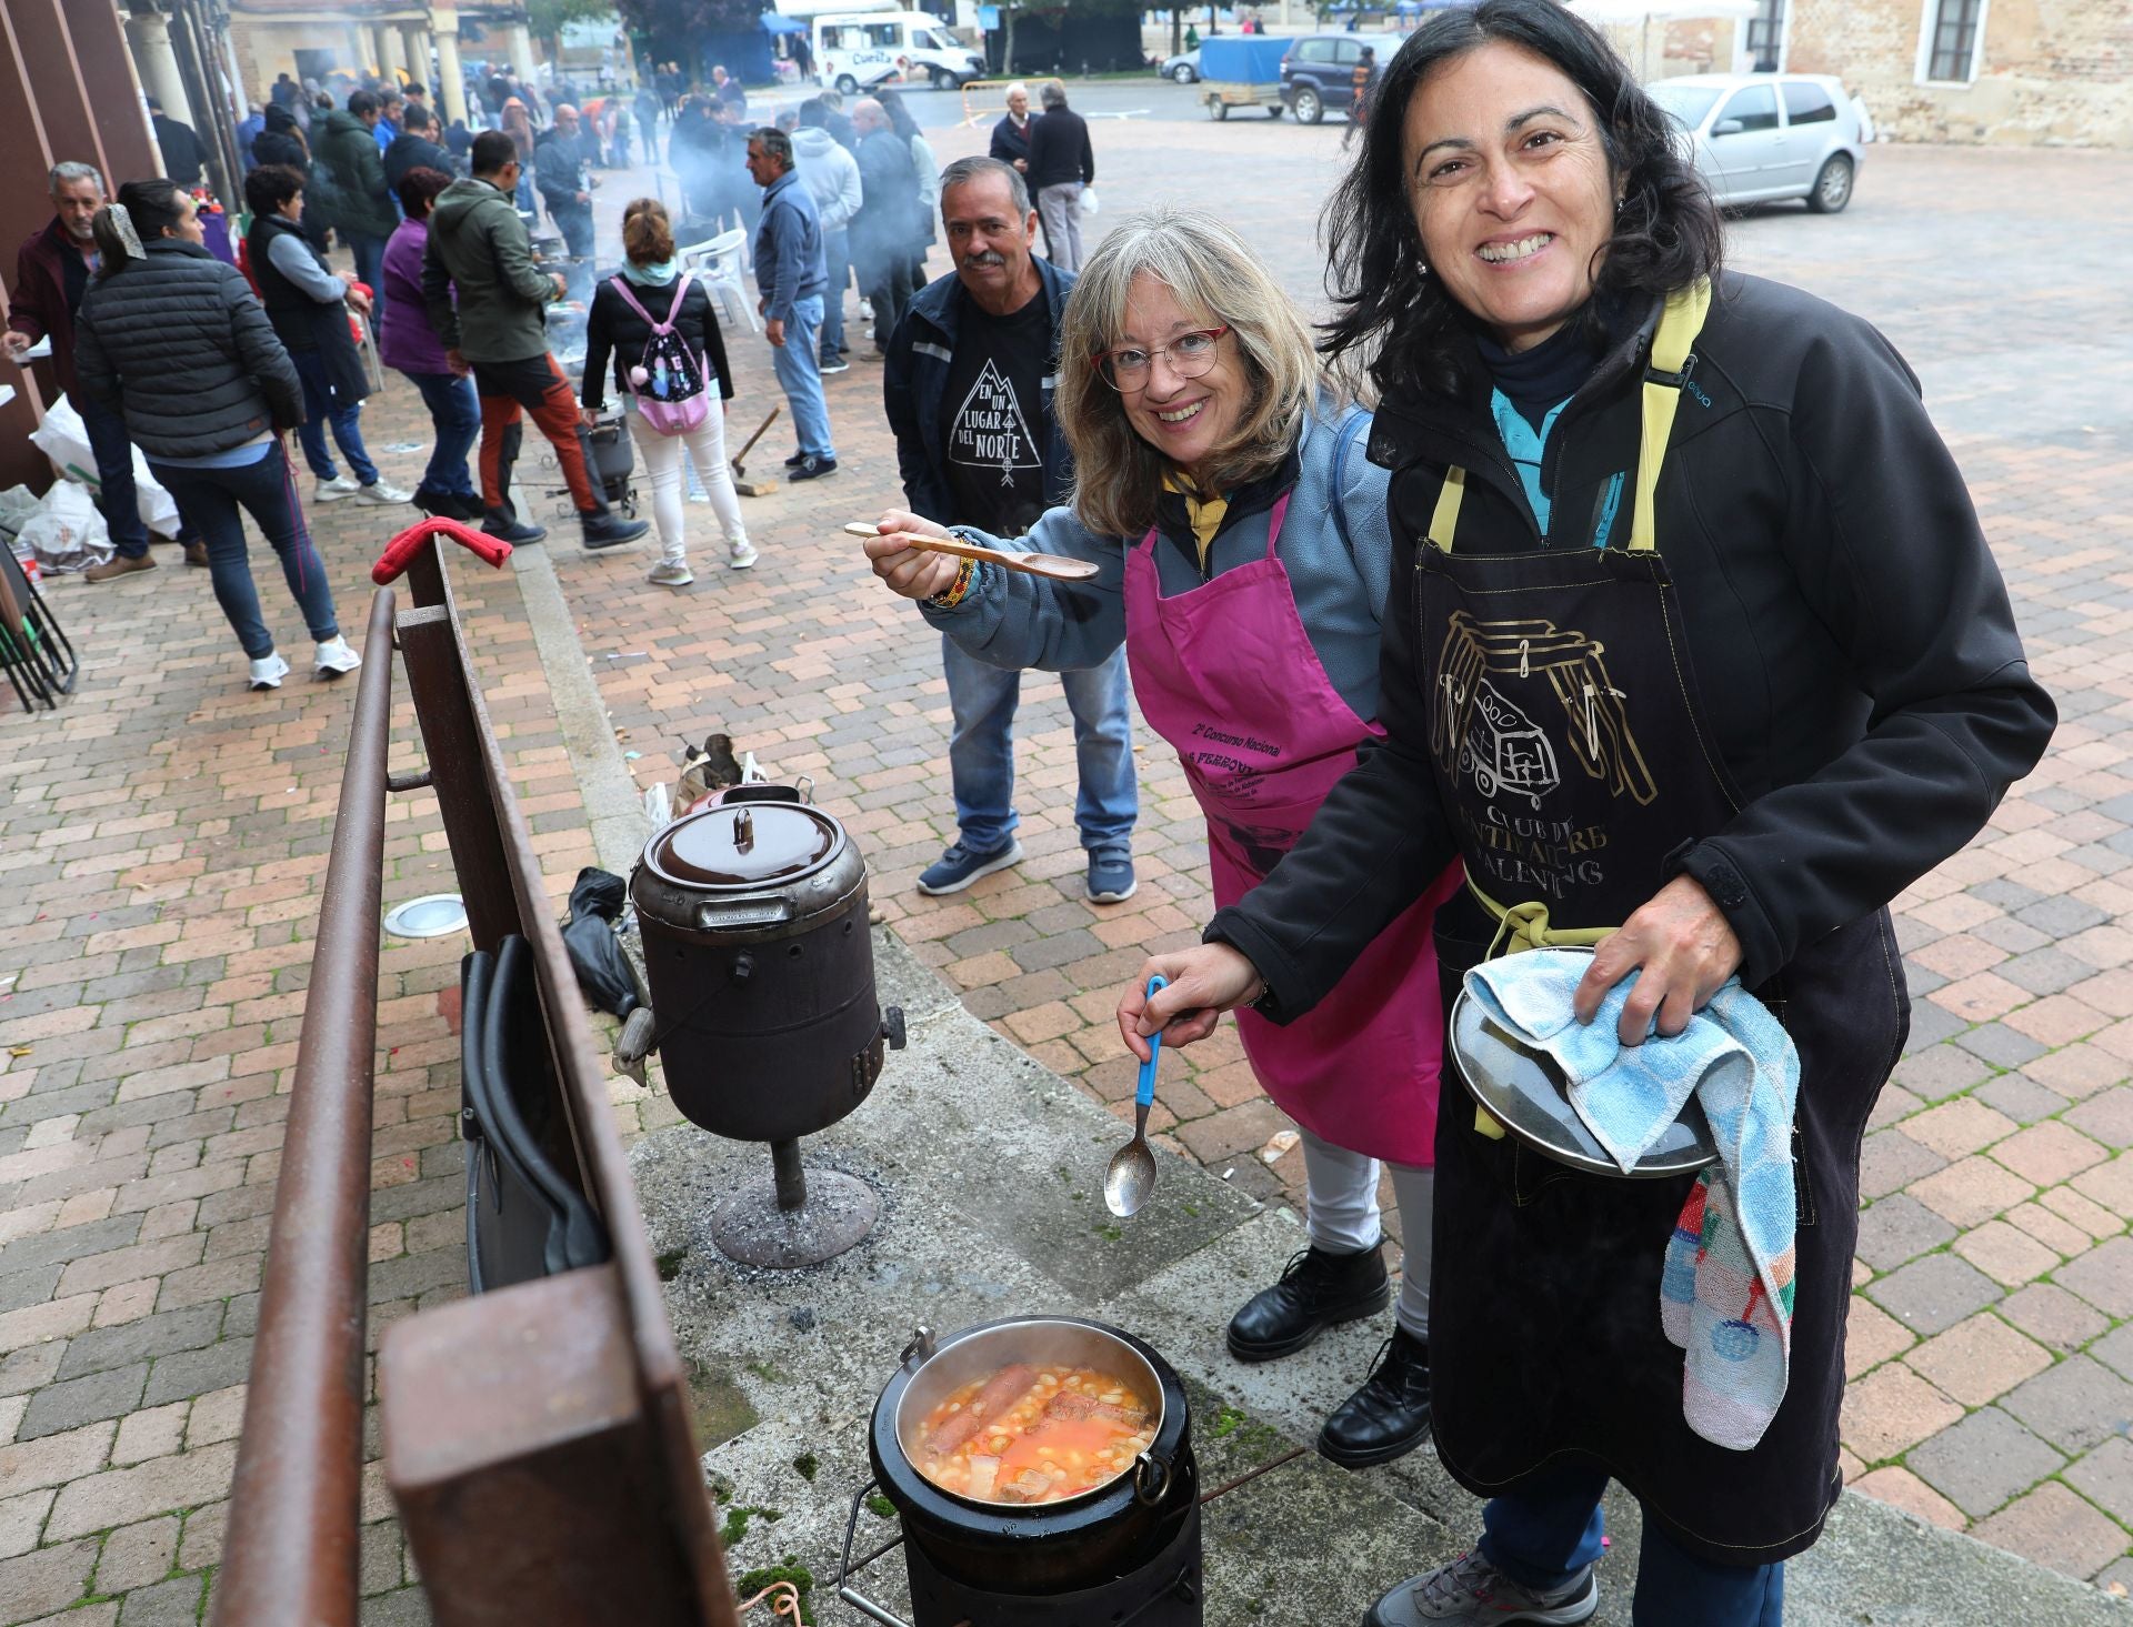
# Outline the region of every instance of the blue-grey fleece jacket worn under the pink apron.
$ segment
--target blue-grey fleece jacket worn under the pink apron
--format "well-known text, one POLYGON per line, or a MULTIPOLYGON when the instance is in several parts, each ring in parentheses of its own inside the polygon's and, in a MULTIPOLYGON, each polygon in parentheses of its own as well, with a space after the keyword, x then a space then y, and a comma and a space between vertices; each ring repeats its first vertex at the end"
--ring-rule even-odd
MULTIPOLYGON (((1391 476, 1363 456, 1369 414, 1335 414, 1320 399, 1297 439, 1295 484, 1273 554, 1288 571, 1303 633, 1327 678, 1361 719, 1378 714, 1378 623, 1393 571, 1393 533, 1384 514, 1391 476)), ((1205 574, 1186 529, 1158 527, 1156 580, 1162 595, 1188 593, 1205 580, 1267 557, 1271 505, 1233 514, 1216 533, 1205 574)), ((932 516, 928 516, 932 518, 932 516)), ((975 542, 998 546, 971 531, 975 542)), ((981 565, 971 595, 953 610, 921 603, 928 623, 968 655, 996 667, 1071 672, 1098 665, 1126 642, 1126 554, 1139 537, 1098 537, 1071 508, 1049 510, 1015 548, 1092 559, 1090 582, 1049 582, 981 565)))

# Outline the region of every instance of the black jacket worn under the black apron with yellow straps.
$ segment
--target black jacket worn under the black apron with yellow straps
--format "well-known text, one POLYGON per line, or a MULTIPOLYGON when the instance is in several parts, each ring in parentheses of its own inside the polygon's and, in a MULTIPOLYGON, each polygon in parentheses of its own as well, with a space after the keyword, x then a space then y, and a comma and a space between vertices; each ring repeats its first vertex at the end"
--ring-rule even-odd
MULTIPOLYGON (((1617 514, 1608 488, 1636 469, 1657 316, 1653 303, 1627 324, 1546 439, 1546 539, 1472 339, 1455 339, 1455 392, 1416 382, 1378 407, 1369 458, 1393 469, 1386 738, 1363 746, 1295 851, 1207 930, 1261 970, 1276 1019, 1316 1004, 1455 855, 1429 766, 1412 589, 1444 469, 1468 471, 1461 550, 1585 548, 1608 527, 1623 546, 1634 499, 1617 514)), ((1969 842, 2043 755, 2056 712, 2028 676, 1962 471, 1888 339, 1796 288, 1728 275, 1687 373, 1657 544, 1711 744, 1745 798, 1649 887, 1696 876, 1755 987, 1969 842), (1715 876, 1726 868, 1745 889, 1715 876)), ((1461 896, 1440 925, 1487 943, 1478 917, 1461 896)))

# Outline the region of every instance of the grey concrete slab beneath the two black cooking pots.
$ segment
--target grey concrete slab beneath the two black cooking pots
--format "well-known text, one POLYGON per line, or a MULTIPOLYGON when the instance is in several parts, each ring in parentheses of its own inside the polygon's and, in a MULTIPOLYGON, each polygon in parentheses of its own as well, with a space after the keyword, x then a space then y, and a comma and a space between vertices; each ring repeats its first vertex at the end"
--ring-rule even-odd
MULTIPOLYGON (((806 1143, 806 1162, 883 1190, 875 1235, 815 1271, 749 1271, 710 1243, 710 1213, 768 1169, 761 1147, 678 1126, 631 1154, 668 1307, 700 1384, 704 1467, 721 1491, 736 1578, 787 1557, 815 1578, 817 1618, 855 1621, 830 1597, 845 1520, 870 1478, 866 1424, 917 1322, 956 1328, 1020 1311, 1081 1314, 1150 1339, 1194 1395, 1203 1484, 1310 1441, 1365 1373, 1384 1326, 1357 1324, 1308 1352, 1246 1367, 1222 1326, 1303 1245, 1203 1169, 1158 1154, 1156 1196, 1113 1224, 1101 1179, 1118 1119, 971 1017, 902 943, 875 934, 883 1004, 911 1045, 875 1094, 806 1143), (753 1510, 742 1516, 740 1510, 753 1510)), ((774 1088, 774 1085, 772 1085, 774 1088)), ((1636 1505, 1610 1501, 1613 1548, 1595 1621, 1630 1623, 1636 1505)), ((862 1508, 857 1552, 892 1518, 862 1508)), ((1359 1621, 1378 1591, 1472 1544, 1478 1510, 1427 1448, 1346 1473, 1305 1454, 1207 1508, 1212 1627, 1359 1621)), ((909 1597, 889 1552, 862 1591, 909 1597)), ((2133 1612, 2016 1554, 1845 1495, 1822 1544, 1787 1572, 1794 1627, 2097 1627, 2133 1612)))

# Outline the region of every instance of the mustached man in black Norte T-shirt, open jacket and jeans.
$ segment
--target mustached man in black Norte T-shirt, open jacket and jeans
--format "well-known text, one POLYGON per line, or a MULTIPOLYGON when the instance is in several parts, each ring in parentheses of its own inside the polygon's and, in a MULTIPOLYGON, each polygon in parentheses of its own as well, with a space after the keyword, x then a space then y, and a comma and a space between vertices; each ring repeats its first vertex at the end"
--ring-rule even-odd
MULTIPOLYGON (((956 275, 924 288, 889 337, 881 394, 913 514, 1022 535, 1066 501, 1073 454, 1052 416, 1060 316, 1073 277, 1037 258, 1028 183, 996 158, 962 158, 941 175, 941 224, 956 275)), ((921 893, 958 893, 1022 857, 1015 840, 1015 704, 1022 674, 941 640, 956 716, 949 778, 956 844, 919 874, 921 893)), ((1139 787, 1126 710, 1126 653, 1062 672, 1081 789, 1075 825, 1088 896, 1133 896, 1139 787)))

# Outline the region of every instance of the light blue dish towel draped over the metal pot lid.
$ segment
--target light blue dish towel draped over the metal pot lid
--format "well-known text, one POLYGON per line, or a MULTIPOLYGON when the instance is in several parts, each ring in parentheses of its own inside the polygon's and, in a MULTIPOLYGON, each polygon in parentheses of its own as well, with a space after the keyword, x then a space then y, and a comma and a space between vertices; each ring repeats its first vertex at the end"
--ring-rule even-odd
POLYGON ((1666 1243, 1659 1324, 1687 1352, 1681 1414, 1713 1446, 1753 1448, 1792 1360, 1792 1109, 1800 1053, 1770 1009, 1730 979, 1674 1038, 1615 1038, 1636 974, 1591 1024, 1570 1013, 1589 955, 1531 951, 1465 974, 1472 996, 1570 1081, 1570 1105, 1608 1156, 1632 1169, 1694 1094, 1719 1162, 1704 1169, 1666 1243))

